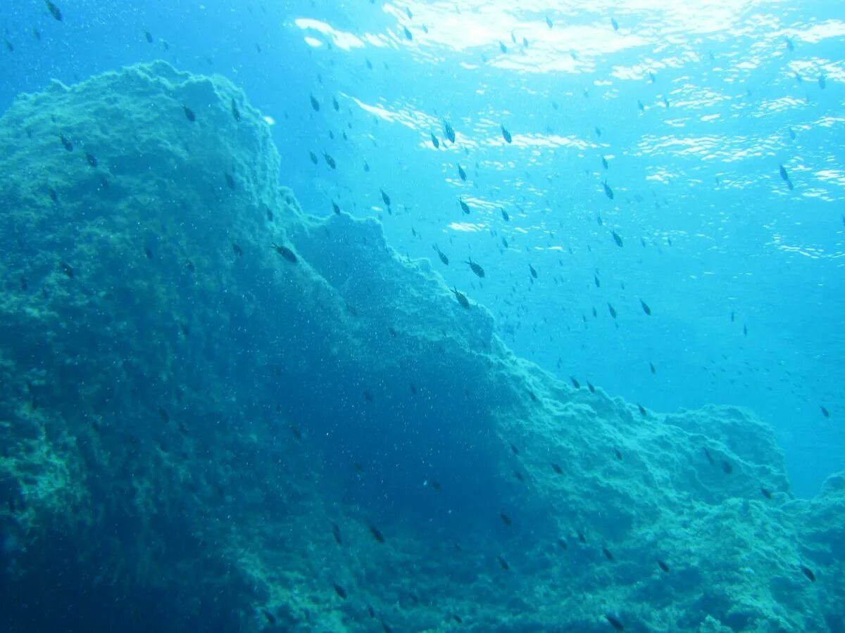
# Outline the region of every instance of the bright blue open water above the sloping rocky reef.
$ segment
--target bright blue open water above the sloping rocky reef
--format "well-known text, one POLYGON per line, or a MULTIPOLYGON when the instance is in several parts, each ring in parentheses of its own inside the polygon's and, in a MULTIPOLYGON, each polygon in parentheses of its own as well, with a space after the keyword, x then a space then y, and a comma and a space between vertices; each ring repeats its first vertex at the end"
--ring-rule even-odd
POLYGON ((0 107, 157 58, 225 75, 303 208, 379 216, 515 353, 656 410, 752 408, 799 495, 845 468, 840 3, 133 5, 4 3, 0 107))

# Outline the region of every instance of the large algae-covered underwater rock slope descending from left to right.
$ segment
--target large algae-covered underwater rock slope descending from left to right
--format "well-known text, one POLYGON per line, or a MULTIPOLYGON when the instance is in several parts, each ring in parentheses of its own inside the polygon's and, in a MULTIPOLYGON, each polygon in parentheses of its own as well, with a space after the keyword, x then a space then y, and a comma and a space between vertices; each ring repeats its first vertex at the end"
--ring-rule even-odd
POLYGON ((12 630, 845 630, 842 477, 556 381, 279 169, 163 62, 0 121, 12 630))

